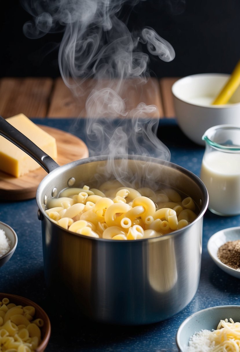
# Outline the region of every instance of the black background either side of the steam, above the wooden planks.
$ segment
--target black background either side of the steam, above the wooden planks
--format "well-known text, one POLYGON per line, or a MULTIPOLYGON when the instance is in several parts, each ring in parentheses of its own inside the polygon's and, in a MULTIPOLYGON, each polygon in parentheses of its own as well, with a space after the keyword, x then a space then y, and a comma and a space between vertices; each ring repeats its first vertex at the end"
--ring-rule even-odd
MULTIPOLYGON (((62 33, 26 38, 23 25, 32 16, 17 0, 3 3, 0 76, 59 76, 57 57, 62 33)), ((126 3, 121 15, 129 11, 126 3)), ((152 27, 176 52, 169 63, 149 55, 152 76, 231 73, 240 59, 239 0, 140 1, 131 12, 128 27, 138 30, 144 26, 152 27)))

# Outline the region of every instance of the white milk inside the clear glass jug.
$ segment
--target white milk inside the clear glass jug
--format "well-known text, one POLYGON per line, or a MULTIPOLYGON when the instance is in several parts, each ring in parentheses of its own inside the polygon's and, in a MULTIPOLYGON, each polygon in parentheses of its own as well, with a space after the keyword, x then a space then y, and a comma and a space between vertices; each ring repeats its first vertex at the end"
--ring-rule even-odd
POLYGON ((208 190, 211 211, 220 215, 240 214, 240 154, 207 153, 200 177, 208 190))

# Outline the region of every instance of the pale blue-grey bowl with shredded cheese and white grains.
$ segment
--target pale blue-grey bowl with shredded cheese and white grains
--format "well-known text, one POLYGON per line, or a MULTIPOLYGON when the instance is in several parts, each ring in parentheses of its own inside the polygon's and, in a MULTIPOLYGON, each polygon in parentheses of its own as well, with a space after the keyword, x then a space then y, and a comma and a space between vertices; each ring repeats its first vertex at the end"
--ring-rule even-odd
POLYGON ((190 315, 176 336, 181 352, 240 351, 240 306, 217 306, 190 315))

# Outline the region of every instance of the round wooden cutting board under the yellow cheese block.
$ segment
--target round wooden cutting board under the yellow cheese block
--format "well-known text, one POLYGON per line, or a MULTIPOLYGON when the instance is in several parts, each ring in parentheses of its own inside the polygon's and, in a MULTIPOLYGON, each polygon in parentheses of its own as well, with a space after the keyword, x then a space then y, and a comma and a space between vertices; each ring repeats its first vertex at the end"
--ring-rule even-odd
MULTIPOLYGON (((56 139, 57 163, 60 166, 89 156, 88 148, 80 138, 57 128, 38 126, 56 139)), ((14 177, 0 171, 0 200, 16 201, 35 198, 38 185, 47 174, 41 166, 21 177, 14 177)))

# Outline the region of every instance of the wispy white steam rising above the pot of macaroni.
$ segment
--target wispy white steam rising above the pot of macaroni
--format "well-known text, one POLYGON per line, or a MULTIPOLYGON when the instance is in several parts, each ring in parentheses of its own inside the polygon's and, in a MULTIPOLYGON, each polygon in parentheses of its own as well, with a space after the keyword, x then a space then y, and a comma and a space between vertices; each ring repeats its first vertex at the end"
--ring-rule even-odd
POLYGON ((157 107, 143 101, 127 110, 122 98, 130 79, 137 86, 150 77, 149 56, 139 50, 139 43, 163 61, 175 57, 171 44, 153 29, 131 33, 119 19, 125 2, 135 6, 140 1, 144 0, 25 0, 23 6, 33 21, 25 23, 23 30, 29 38, 63 31, 59 69, 79 99, 87 79, 93 78, 84 112, 91 155, 135 154, 169 160, 168 148, 156 137, 157 107))

